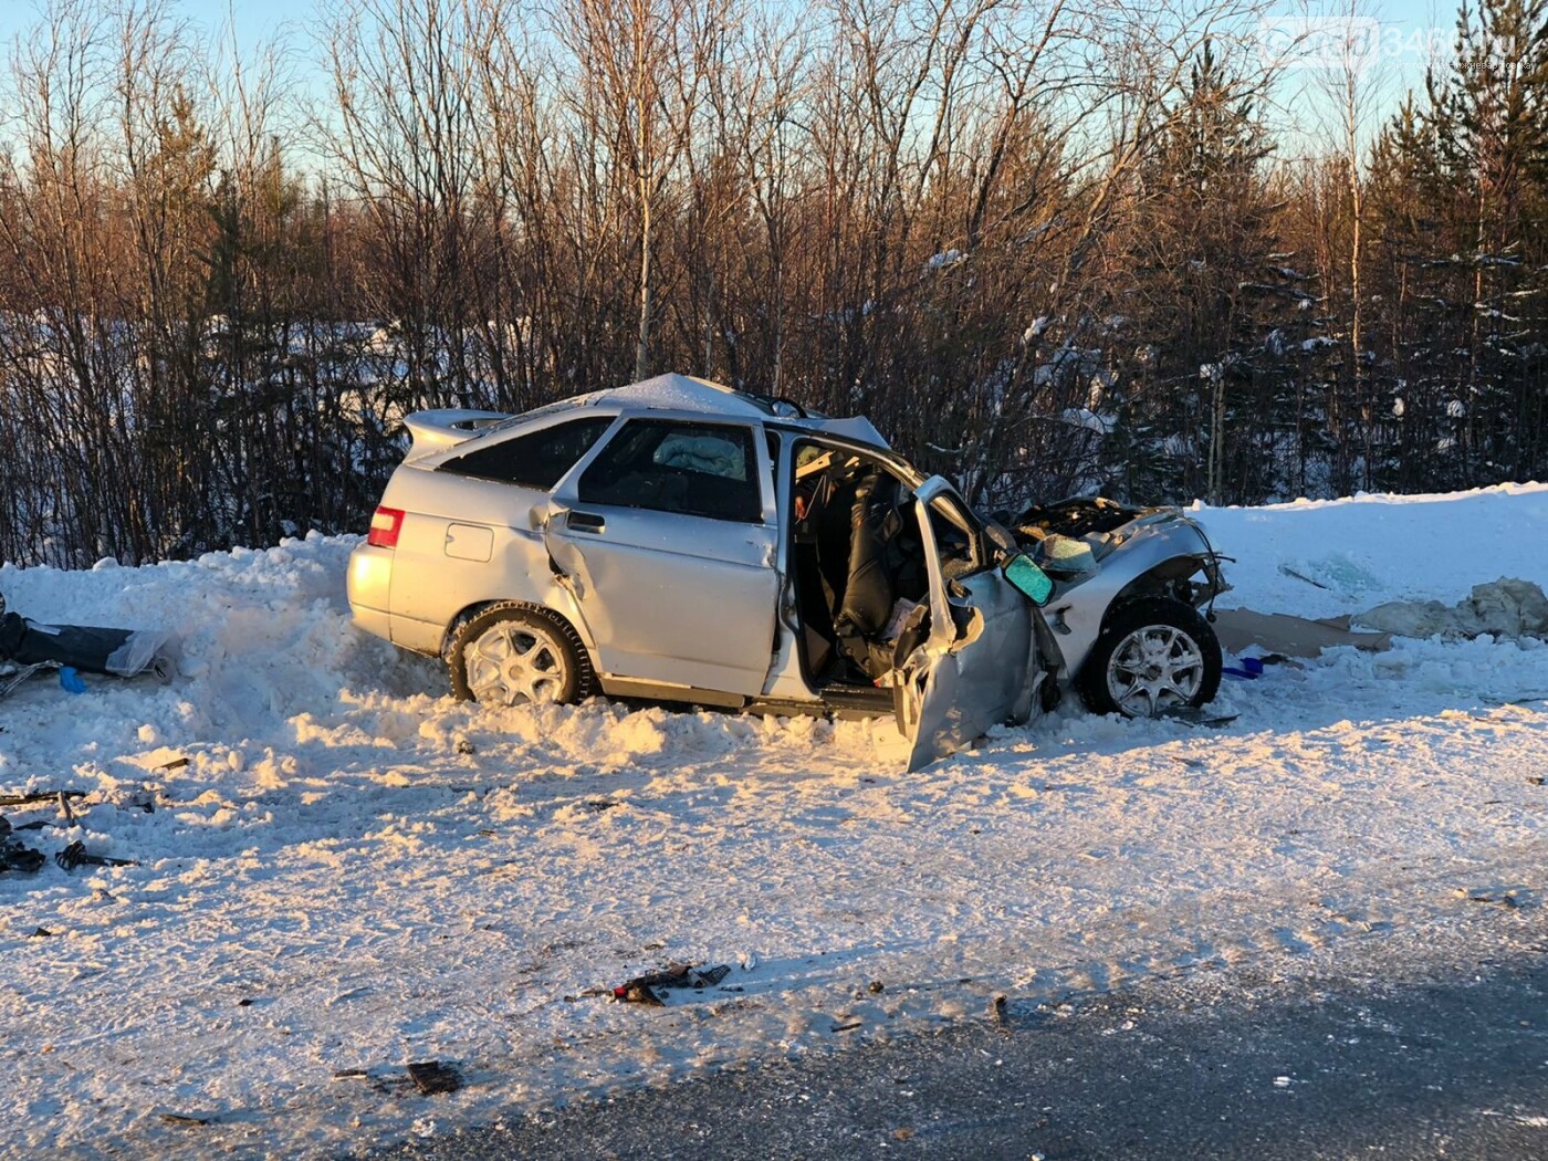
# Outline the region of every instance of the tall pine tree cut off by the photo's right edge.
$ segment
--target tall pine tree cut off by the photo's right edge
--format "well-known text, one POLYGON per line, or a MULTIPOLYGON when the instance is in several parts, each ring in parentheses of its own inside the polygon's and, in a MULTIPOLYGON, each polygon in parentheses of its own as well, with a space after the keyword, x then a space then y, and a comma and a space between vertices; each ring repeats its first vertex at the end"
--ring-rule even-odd
POLYGON ((1404 461, 1427 486, 1540 469, 1548 0, 1463 3, 1455 53, 1373 153, 1407 308, 1404 461))

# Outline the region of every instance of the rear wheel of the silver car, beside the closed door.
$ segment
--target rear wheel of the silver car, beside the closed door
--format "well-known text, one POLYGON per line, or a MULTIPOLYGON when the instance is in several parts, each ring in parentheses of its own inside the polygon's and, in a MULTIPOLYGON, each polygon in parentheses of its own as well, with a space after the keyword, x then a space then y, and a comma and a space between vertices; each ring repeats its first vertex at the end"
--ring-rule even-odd
POLYGON ((539 605, 489 605, 446 650, 452 694, 486 706, 570 704, 591 695, 591 656, 574 627, 539 605))

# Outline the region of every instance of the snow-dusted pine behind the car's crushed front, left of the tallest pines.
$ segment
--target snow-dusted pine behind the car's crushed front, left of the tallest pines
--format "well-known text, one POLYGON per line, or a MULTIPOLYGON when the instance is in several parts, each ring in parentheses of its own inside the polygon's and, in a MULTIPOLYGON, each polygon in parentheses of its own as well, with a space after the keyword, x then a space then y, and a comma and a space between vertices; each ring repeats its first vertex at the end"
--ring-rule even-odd
POLYGON ((1206 43, 1163 110, 1139 167, 1133 262, 1142 358, 1135 359, 1121 441, 1139 498, 1240 497, 1262 481, 1254 446, 1272 440, 1271 319, 1293 293, 1272 269, 1266 132, 1243 82, 1206 43), (1268 423, 1265 423, 1268 420, 1268 423))

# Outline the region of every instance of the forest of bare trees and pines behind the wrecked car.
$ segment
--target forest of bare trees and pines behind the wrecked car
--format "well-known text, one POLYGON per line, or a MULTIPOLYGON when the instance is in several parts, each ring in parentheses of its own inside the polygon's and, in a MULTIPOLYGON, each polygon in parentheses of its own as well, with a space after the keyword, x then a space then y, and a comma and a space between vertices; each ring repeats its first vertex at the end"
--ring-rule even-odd
POLYGON ((1395 115, 1303 70, 1276 136, 1251 0, 344 0, 246 54, 56 0, 0 87, 0 560, 359 531, 407 412, 663 370, 985 506, 1548 475, 1545 5, 1395 115))

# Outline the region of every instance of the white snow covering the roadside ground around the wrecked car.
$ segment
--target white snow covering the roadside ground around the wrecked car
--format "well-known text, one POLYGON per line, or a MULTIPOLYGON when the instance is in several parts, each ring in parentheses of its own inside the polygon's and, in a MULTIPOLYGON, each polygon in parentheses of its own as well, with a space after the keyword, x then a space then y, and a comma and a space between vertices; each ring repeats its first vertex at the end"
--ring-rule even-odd
MULTIPOLYGON (((1195 514, 1223 605, 1548 582, 1542 485, 1195 514)), ((1336 650, 1229 681, 1223 729, 1062 709, 904 776, 885 721, 454 703, 350 625, 353 543, 0 568, 28 616, 181 633, 184 670, 0 703, 0 793, 90 791, 23 837, 139 864, 0 876, 5 1152, 336 1155, 1540 890, 1539 641, 1336 650), (584 995, 669 960, 732 971, 584 995), (466 1087, 416 1094, 429 1059, 466 1087)))

